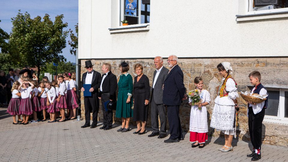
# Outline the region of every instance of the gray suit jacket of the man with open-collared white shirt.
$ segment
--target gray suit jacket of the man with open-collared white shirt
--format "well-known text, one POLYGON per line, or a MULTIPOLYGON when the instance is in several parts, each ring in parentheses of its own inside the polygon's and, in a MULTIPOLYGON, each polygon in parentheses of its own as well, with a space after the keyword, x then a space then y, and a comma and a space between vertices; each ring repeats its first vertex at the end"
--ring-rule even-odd
MULTIPOLYGON (((163 89, 162 89, 162 87, 164 84, 164 80, 166 79, 166 77, 168 75, 168 72, 169 72, 169 70, 163 66, 163 68, 161 69, 159 76, 156 80, 154 89, 152 90, 153 91, 152 97, 153 97, 156 104, 163 104, 163 89)), ((157 73, 157 71, 155 70, 154 76, 153 76, 152 88, 153 88, 153 83, 154 83, 156 73, 157 73)), ((151 98, 151 100, 152 100, 152 98, 151 98)))

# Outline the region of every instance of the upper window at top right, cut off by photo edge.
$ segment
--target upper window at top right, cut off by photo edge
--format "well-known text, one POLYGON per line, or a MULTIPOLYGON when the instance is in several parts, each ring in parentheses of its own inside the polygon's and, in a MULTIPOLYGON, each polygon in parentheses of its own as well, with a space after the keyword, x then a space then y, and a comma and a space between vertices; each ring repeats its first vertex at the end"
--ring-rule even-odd
POLYGON ((288 0, 247 0, 247 14, 288 12, 288 0))

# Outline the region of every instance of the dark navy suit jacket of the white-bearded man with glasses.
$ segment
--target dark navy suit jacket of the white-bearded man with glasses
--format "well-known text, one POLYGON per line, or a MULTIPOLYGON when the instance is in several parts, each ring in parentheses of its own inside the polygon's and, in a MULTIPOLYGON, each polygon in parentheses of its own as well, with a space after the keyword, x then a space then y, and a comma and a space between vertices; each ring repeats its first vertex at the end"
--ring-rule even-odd
POLYGON ((181 104, 185 95, 183 72, 179 65, 175 65, 164 80, 163 104, 177 106, 181 104))

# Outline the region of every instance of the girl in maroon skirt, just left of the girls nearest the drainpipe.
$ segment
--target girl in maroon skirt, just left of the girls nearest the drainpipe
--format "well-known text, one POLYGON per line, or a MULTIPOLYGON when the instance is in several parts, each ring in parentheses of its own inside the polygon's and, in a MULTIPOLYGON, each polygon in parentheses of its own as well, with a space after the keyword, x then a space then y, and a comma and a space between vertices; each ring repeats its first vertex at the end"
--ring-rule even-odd
POLYGON ((65 109, 67 109, 67 104, 66 104, 66 84, 64 82, 64 77, 58 76, 58 82, 60 83, 60 87, 59 87, 59 94, 58 94, 58 98, 57 98, 57 104, 56 107, 58 107, 60 109, 60 114, 61 114, 61 119, 58 120, 58 122, 65 122, 65 109))

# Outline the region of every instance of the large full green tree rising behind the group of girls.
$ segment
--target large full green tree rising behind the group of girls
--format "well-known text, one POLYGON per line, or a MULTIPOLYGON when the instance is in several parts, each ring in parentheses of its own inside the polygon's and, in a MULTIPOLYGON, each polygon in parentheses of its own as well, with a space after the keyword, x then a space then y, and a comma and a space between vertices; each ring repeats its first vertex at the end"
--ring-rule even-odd
POLYGON ((63 15, 56 16, 52 22, 48 14, 42 21, 40 16, 31 19, 29 13, 20 12, 12 18, 9 52, 19 66, 38 67, 39 77, 41 70, 46 68, 46 62, 66 61, 60 53, 66 47, 68 31, 64 28, 67 23, 63 23, 63 15))

